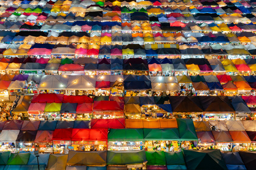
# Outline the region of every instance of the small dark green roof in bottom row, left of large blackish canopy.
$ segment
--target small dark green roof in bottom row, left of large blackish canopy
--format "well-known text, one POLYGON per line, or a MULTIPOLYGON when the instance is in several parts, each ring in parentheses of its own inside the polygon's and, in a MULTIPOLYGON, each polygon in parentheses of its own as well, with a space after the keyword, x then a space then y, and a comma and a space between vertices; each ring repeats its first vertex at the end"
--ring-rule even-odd
POLYGON ((166 155, 167 165, 183 165, 185 160, 183 157, 183 152, 164 152, 166 155))

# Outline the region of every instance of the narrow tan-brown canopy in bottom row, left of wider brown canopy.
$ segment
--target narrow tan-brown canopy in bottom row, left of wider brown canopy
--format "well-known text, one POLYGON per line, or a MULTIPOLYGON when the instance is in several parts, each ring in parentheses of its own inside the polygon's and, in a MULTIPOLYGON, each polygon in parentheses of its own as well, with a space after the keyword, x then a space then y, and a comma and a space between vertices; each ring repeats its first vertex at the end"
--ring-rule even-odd
POLYGON ((48 160, 47 169, 65 169, 68 160, 68 155, 66 154, 51 154, 48 160))

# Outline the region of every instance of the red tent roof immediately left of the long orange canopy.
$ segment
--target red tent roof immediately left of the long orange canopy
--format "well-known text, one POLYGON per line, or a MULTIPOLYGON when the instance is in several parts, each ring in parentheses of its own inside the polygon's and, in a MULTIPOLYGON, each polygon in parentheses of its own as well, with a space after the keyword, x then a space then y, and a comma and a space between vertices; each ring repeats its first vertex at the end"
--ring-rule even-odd
POLYGON ((114 119, 92 119, 90 121, 90 128, 111 128, 111 129, 124 129, 125 118, 114 119))

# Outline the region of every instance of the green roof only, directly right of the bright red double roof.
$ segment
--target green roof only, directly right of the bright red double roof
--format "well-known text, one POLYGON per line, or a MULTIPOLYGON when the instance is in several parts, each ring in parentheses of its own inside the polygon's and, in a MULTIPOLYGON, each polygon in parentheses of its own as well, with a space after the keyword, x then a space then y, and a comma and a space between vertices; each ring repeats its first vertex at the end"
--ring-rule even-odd
POLYGON ((143 129, 110 129, 108 141, 144 141, 143 129))

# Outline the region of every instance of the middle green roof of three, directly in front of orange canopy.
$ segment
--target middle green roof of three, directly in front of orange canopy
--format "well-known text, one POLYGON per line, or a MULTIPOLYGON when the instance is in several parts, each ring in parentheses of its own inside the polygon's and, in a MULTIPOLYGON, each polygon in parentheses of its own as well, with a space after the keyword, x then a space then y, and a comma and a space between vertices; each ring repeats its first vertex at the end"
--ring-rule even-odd
POLYGON ((145 141, 179 141, 179 131, 174 129, 143 129, 145 141))

